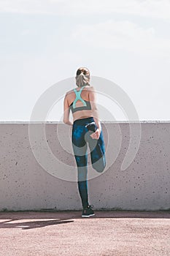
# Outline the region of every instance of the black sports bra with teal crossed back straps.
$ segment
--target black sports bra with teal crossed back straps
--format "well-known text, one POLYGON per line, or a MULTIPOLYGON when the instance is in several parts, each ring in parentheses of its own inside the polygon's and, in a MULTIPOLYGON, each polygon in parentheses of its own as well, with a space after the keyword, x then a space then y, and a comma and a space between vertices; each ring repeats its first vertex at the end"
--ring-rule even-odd
POLYGON ((82 86, 82 88, 80 89, 80 91, 77 91, 76 89, 74 89, 74 92, 76 94, 76 98, 74 99, 74 102, 72 102, 72 104, 69 105, 69 108, 72 110, 72 113, 78 111, 78 110, 91 110, 91 105, 90 105, 90 102, 88 102, 87 100, 84 100, 82 99, 81 97, 81 92, 82 92, 82 89, 84 88, 85 86, 82 86), (82 107, 78 107, 76 108, 76 102, 77 100, 80 99, 81 102, 83 103, 83 106, 82 107))

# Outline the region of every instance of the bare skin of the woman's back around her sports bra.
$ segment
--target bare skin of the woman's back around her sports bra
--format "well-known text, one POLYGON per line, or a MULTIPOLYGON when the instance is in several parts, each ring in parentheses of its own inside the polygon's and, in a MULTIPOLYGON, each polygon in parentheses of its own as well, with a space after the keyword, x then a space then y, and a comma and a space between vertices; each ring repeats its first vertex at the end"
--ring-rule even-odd
MULTIPOLYGON (((89 96, 88 96, 88 86, 85 86, 85 88, 82 90, 81 93, 81 97, 84 100, 89 101, 89 96)), ((76 89, 77 91, 79 91, 80 89, 76 89)), ((74 91, 70 91, 68 94, 68 102, 69 105, 72 104, 72 102, 74 102, 75 99, 75 93, 74 91)), ((76 102, 76 107, 82 107, 83 103, 80 100, 77 100, 76 102)), ((77 119, 81 119, 81 118, 88 118, 88 117, 92 117, 93 116, 93 110, 78 110, 74 113, 72 113, 73 116, 73 121, 77 120, 77 119)))

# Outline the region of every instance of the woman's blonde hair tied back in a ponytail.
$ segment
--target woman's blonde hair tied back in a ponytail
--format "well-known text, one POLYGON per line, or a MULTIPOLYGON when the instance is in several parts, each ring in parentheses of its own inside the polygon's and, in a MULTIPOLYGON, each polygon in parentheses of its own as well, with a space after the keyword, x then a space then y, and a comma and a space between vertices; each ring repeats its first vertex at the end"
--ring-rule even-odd
POLYGON ((80 67, 76 73, 76 84, 78 87, 90 86, 90 72, 86 67, 80 67))

